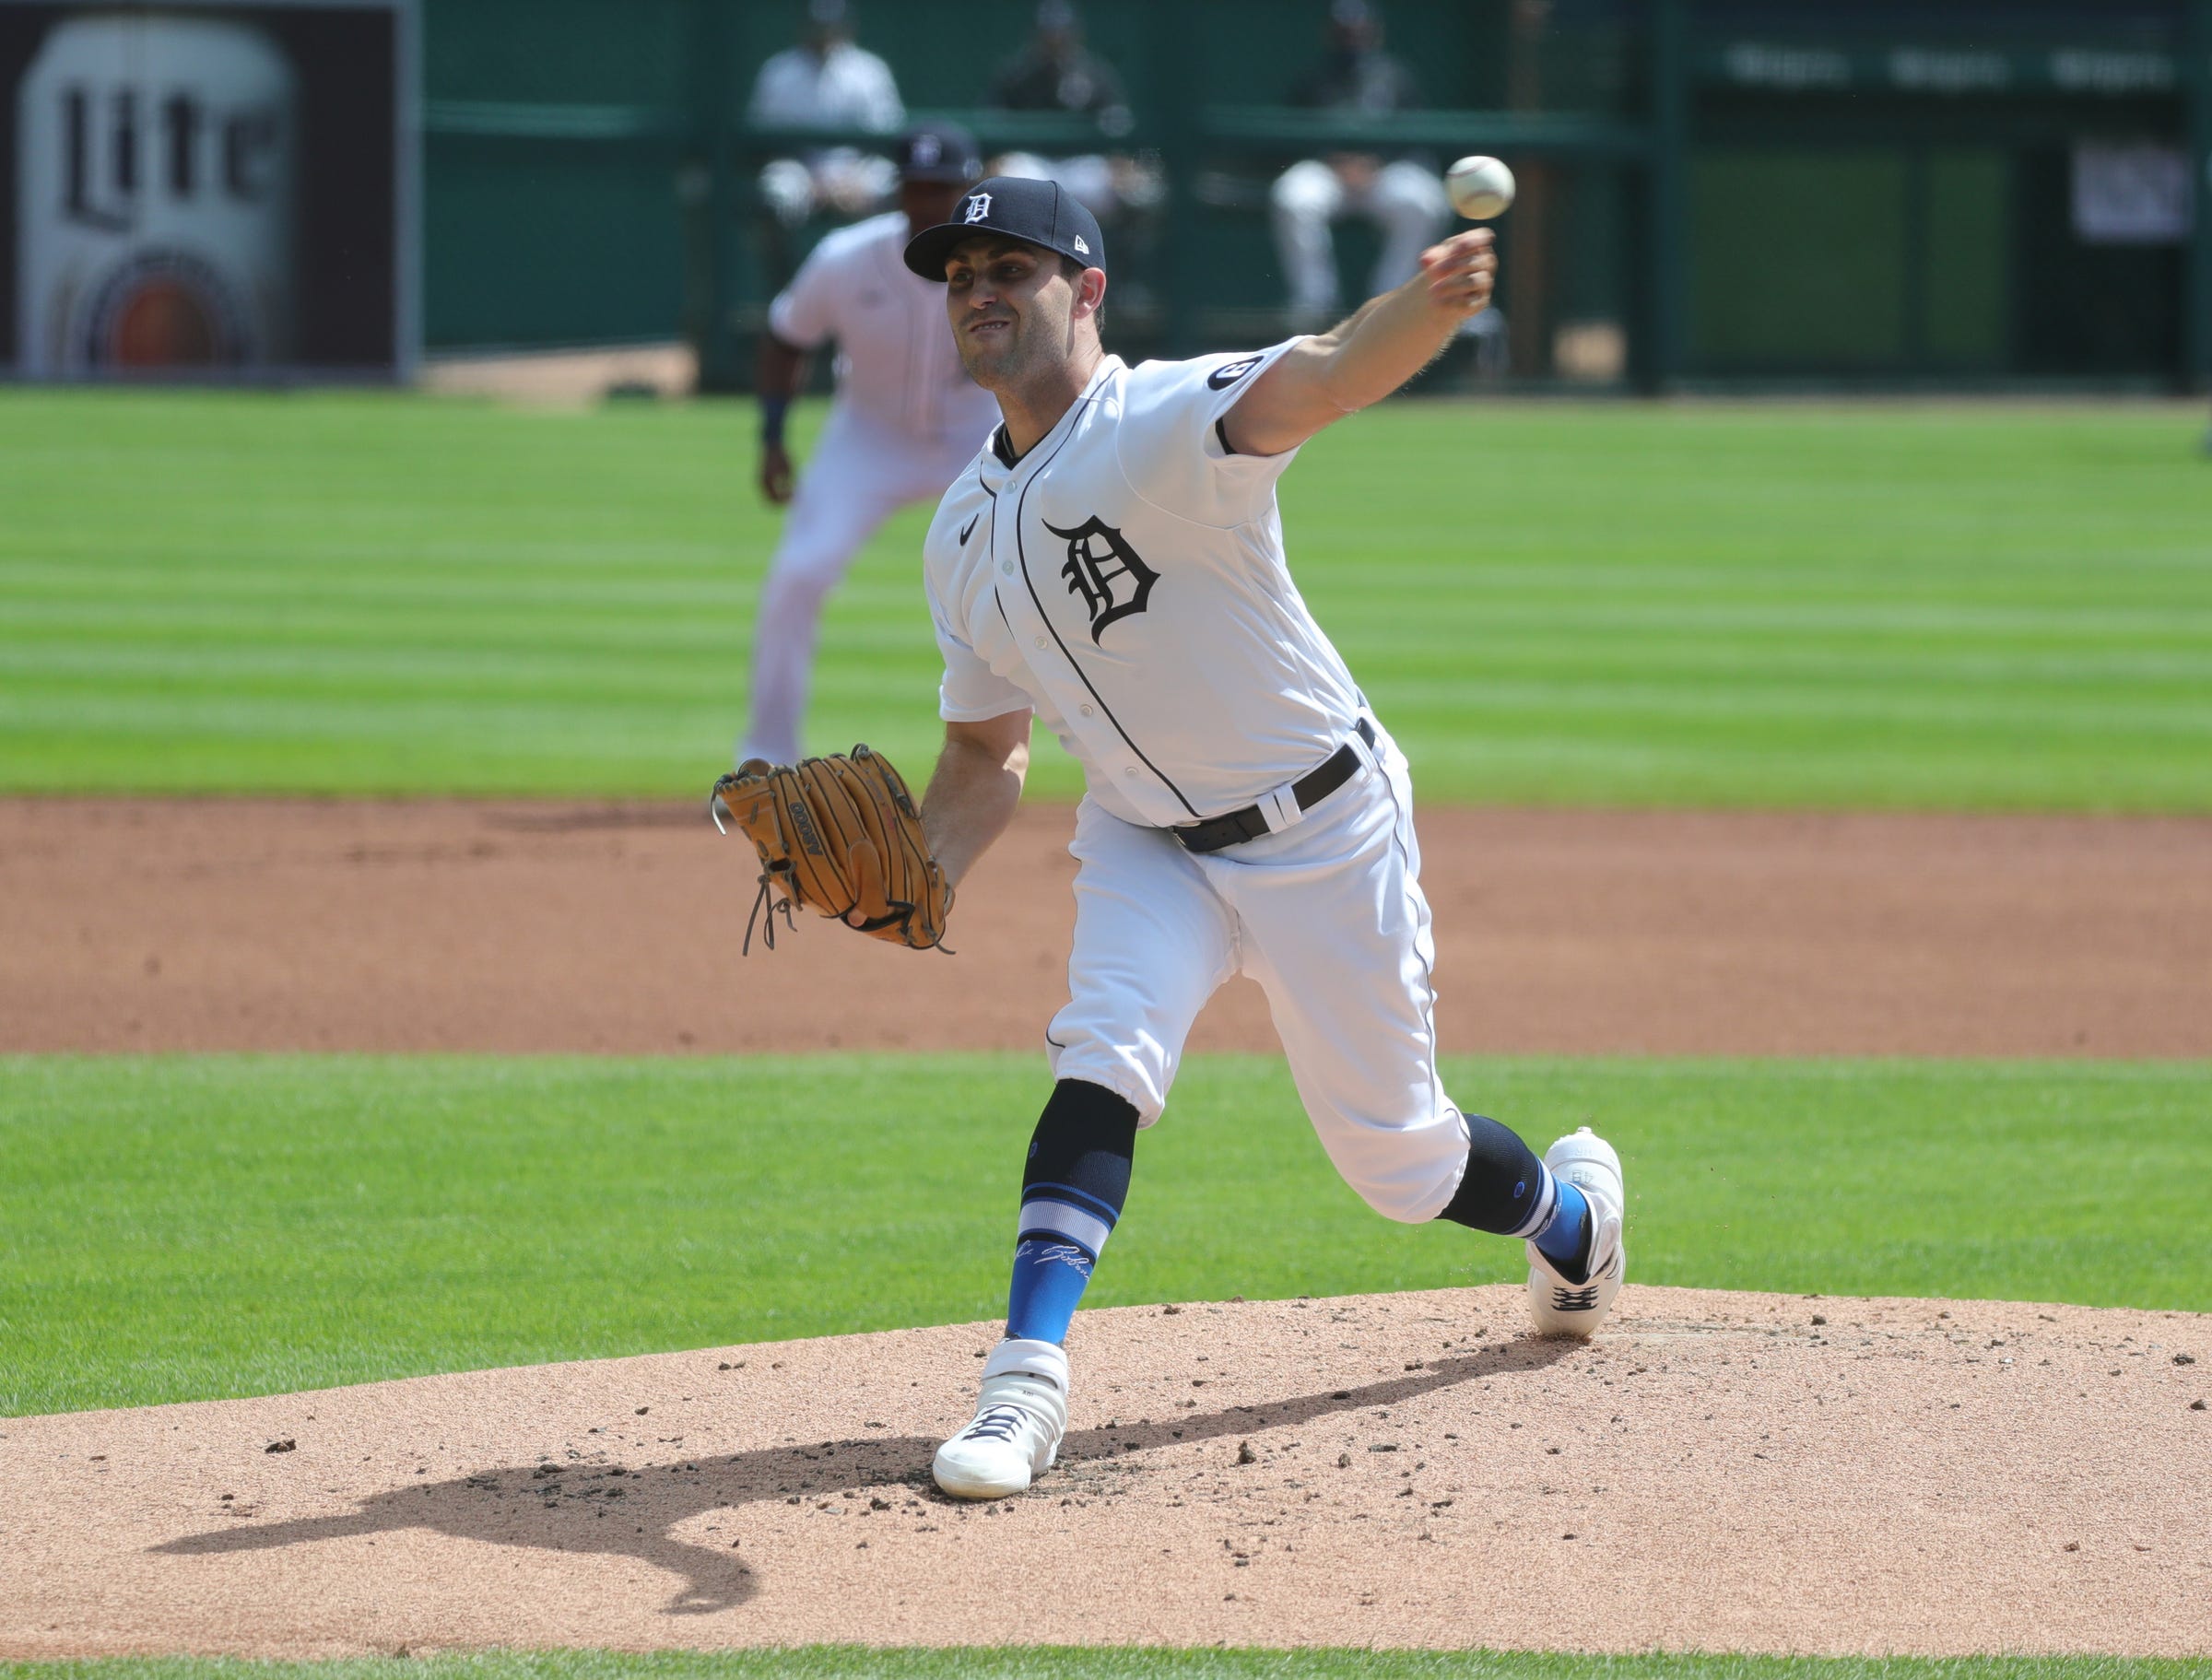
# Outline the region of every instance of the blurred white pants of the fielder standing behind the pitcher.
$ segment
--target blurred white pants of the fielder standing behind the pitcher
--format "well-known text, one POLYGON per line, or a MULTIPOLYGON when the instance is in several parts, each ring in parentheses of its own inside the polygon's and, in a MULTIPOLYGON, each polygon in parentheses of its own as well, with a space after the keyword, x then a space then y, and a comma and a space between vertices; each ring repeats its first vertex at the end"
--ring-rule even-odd
POLYGON ((830 407, 761 584, 752 626, 752 721, 739 760, 799 763, 823 601, 876 526, 898 508, 942 497, 975 460, 978 442, 964 431, 916 438, 843 402, 830 407))

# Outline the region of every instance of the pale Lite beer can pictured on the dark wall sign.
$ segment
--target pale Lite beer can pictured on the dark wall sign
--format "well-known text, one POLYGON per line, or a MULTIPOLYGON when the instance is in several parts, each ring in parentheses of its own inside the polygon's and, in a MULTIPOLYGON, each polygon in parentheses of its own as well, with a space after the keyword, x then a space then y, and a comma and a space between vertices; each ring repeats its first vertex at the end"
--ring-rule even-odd
POLYGON ((299 84, 252 22, 64 15, 15 88, 29 378, 294 358, 299 84))

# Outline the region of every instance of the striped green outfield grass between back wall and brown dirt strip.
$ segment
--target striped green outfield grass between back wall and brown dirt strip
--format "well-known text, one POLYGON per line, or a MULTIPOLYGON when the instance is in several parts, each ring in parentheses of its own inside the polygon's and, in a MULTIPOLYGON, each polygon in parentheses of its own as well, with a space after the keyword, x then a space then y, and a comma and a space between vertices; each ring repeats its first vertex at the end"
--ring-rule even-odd
MULTIPOLYGON (((2212 811, 2201 429, 1402 402, 1283 502, 1427 798, 2212 811)), ((695 796, 752 458, 739 402, 0 393, 0 789, 695 796)), ((922 524, 830 610, 814 747, 933 752, 922 524)))

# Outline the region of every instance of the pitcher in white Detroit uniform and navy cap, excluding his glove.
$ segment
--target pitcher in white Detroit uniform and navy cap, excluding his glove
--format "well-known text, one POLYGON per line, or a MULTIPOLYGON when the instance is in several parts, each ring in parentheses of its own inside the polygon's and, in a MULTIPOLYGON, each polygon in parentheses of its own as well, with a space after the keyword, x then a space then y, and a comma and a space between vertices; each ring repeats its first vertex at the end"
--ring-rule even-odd
POLYGON ((1491 296, 1489 232, 1327 334, 1126 367, 1099 347, 1106 245, 1051 181, 991 177, 907 265, 1002 424, 925 548, 945 749, 922 827, 958 880, 1013 816, 1031 716, 1082 763, 1068 1006, 1022 1174, 1006 1340, 938 1485, 991 1499, 1053 1463, 1062 1340, 1128 1194, 1137 1132, 1221 981, 1267 993, 1329 1161, 1394 1220, 1528 1245, 1544 1333, 1621 1287, 1619 1156, 1588 1127, 1537 1161, 1436 1072, 1429 904, 1407 763, 1283 559, 1298 444, 1389 396, 1491 296))

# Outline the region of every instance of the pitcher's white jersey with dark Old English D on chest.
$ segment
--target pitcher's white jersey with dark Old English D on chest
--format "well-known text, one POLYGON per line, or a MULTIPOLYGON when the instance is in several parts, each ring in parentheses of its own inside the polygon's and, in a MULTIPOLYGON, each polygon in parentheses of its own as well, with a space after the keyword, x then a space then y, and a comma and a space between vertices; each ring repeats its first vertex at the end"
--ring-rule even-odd
MULTIPOLYGON (((1256 356, 1106 356, 1018 462, 995 433, 929 526, 947 721, 1035 710, 1113 816, 1254 805, 1345 741, 1360 694, 1290 581, 1274 484, 1221 418, 1256 356)), ((1294 818, 1292 818, 1294 820, 1294 818)))

